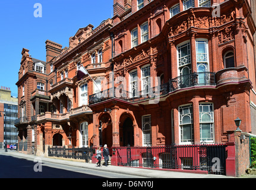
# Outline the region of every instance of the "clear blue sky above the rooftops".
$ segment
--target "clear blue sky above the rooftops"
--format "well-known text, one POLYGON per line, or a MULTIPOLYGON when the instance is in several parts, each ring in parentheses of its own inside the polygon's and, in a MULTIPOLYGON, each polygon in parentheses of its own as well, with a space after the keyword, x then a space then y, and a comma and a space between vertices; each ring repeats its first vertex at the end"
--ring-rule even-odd
POLYGON ((113 14, 113 0, 1 0, 0 87, 17 96, 21 50, 46 61, 46 40, 68 47, 69 37, 88 24, 94 28, 113 14), (42 5, 42 17, 34 17, 34 4, 42 5))

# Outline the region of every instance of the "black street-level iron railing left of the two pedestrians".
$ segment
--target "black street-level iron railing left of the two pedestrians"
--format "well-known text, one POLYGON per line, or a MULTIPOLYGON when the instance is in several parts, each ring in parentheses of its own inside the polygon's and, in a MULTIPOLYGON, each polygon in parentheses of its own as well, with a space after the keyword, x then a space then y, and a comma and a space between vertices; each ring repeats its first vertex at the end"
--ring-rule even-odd
POLYGON ((82 147, 82 148, 67 148, 61 146, 48 147, 48 156, 52 157, 64 157, 69 159, 81 159, 89 162, 91 157, 95 153, 94 148, 82 147))

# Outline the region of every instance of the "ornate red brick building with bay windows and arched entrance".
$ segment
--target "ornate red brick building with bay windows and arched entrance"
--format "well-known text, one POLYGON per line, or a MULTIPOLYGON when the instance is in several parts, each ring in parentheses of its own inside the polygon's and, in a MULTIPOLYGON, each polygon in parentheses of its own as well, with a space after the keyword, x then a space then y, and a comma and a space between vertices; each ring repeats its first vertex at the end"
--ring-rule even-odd
POLYGON ((113 12, 69 47, 47 40, 46 62, 23 49, 27 120, 16 126, 28 151, 32 130, 37 154, 52 145, 228 143, 238 117, 242 132, 256 134, 250 1, 114 0, 113 12), (81 65, 90 75, 80 80, 81 65))

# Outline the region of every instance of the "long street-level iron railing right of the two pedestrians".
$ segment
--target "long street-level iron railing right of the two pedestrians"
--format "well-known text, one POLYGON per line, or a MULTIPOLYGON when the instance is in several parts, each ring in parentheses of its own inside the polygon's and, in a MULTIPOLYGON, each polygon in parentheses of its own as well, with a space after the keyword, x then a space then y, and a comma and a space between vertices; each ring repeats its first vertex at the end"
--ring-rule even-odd
POLYGON ((226 174, 225 144, 117 147, 115 150, 119 166, 207 170, 211 174, 226 174))

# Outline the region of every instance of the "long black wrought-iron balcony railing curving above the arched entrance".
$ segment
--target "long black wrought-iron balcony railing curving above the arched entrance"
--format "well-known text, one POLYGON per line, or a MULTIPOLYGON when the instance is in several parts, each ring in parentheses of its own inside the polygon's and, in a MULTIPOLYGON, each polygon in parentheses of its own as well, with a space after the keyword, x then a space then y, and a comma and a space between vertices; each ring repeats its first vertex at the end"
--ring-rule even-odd
POLYGON ((103 90, 100 93, 92 94, 89 96, 89 105, 94 103, 99 103, 112 98, 117 98, 125 100, 128 102, 140 102, 142 100, 154 99, 156 97, 165 96, 173 91, 189 88, 200 85, 216 85, 215 73, 214 72, 194 72, 188 75, 182 75, 172 80, 168 83, 162 84, 159 87, 153 87, 147 90, 131 93, 125 91, 122 88, 109 88, 108 90, 103 90))

